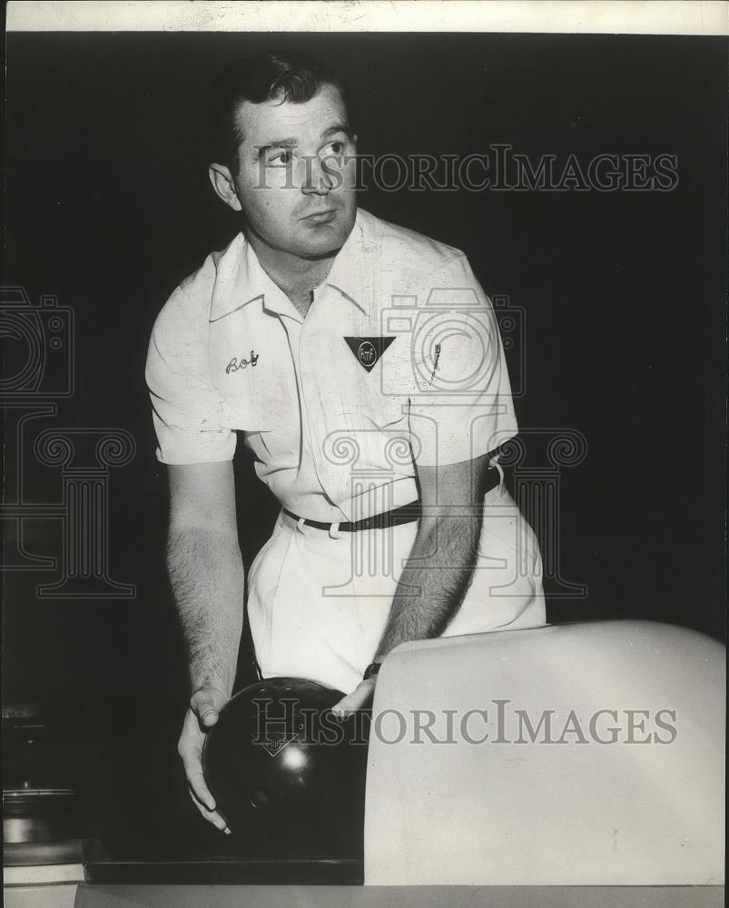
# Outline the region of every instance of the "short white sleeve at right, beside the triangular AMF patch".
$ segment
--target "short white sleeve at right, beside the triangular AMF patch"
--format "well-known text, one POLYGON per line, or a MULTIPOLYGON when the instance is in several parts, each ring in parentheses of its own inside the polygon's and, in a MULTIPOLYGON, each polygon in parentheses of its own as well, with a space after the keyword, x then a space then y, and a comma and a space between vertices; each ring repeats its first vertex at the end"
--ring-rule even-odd
POLYGON ((420 466, 471 460, 517 435, 497 320, 462 253, 421 287, 410 347, 409 427, 420 466))

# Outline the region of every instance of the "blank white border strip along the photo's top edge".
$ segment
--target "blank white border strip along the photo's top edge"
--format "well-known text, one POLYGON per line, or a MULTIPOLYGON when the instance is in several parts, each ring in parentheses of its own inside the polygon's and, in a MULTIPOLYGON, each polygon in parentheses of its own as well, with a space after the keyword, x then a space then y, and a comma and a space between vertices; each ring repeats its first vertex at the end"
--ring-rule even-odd
POLYGON ((729 35, 727 0, 10 0, 8 32, 729 35))

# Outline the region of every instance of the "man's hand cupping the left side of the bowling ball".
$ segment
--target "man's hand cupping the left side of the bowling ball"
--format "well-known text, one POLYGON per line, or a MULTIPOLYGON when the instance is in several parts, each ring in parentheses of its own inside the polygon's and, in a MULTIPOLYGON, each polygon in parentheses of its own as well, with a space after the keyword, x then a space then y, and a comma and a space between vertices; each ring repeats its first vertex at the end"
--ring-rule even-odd
POLYGON ((202 745, 208 732, 218 721, 220 711, 227 701, 228 696, 218 687, 202 687, 195 691, 182 723, 177 753, 182 757, 192 803, 209 823, 221 832, 230 834, 231 830, 225 820, 215 810, 215 798, 205 785, 205 778, 202 775, 202 745))

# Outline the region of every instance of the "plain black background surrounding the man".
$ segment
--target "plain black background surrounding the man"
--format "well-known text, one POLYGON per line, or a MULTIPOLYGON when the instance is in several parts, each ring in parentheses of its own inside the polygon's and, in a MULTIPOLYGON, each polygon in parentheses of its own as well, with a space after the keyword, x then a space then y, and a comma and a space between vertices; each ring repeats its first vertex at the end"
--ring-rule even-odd
MULTIPOLYGON (((40 703, 65 755, 55 784, 84 785, 90 831, 107 838, 195 825, 178 800, 185 675, 143 365, 163 301, 237 229, 208 183, 207 86, 271 46, 344 75, 363 153, 678 156, 674 192, 370 190, 361 203, 463 249, 489 293, 523 307, 519 422, 587 439, 562 475, 559 558, 589 596, 553 597, 549 616, 724 637, 724 39, 11 34, 5 283, 74 309, 75 392, 55 424, 137 441, 110 498, 110 573, 137 595, 42 602, 35 586, 53 577, 5 574, 5 701, 40 703)), ((276 508, 239 461, 250 563, 276 508)), ((58 499, 57 471, 32 456, 26 470, 37 500, 58 499)), ((57 555, 57 528, 26 545, 57 555)))

